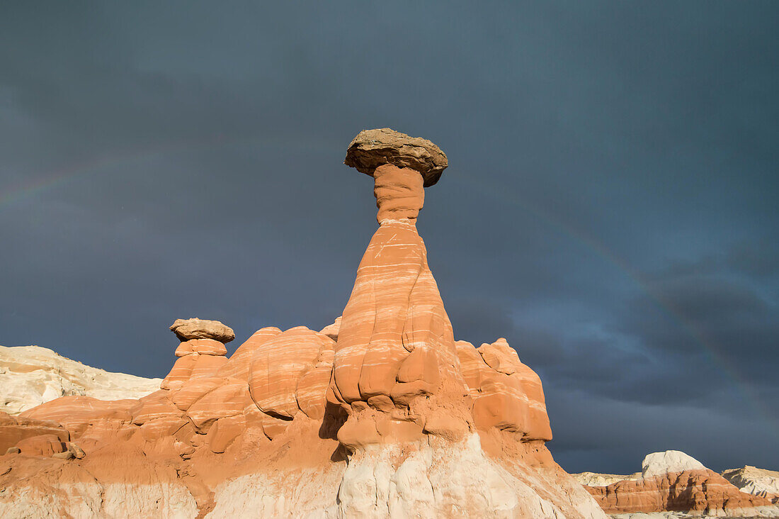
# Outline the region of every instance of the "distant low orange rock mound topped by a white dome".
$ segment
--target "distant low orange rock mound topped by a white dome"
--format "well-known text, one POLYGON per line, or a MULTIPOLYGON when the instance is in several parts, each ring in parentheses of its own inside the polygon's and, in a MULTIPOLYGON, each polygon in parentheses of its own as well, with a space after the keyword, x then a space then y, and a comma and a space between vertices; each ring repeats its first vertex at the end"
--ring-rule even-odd
POLYGON ((640 477, 626 476, 622 481, 586 488, 608 514, 779 517, 779 507, 772 506, 770 499, 741 492, 685 453, 651 453, 642 467, 640 477))

